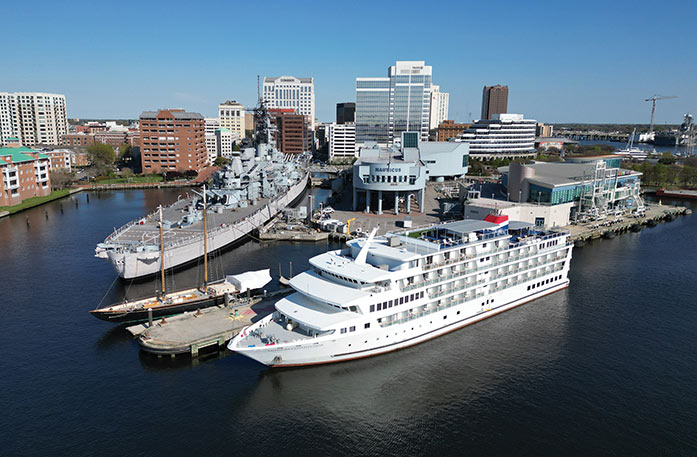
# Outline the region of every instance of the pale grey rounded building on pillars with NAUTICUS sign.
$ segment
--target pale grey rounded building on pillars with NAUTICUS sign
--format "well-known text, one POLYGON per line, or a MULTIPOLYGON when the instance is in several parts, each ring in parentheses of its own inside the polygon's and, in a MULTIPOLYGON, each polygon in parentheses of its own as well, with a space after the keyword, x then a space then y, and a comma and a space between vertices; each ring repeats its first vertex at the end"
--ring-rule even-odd
POLYGON ((467 143, 421 142, 418 132, 403 132, 399 146, 366 144, 353 165, 353 210, 382 214, 385 198, 395 214, 400 206, 407 213, 423 211, 426 181, 463 177, 468 156, 467 143))

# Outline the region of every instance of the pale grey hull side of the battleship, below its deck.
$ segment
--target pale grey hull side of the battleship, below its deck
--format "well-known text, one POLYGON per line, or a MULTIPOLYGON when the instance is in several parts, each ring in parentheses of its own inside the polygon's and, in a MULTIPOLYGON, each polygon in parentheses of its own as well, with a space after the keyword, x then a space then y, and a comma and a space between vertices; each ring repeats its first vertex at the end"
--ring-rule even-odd
MULTIPOLYGON (((270 201, 267 205, 264 205, 243 220, 226 227, 209 230, 208 252, 232 245, 273 218, 303 194, 307 187, 307 182, 308 178, 306 176, 294 184, 286 194, 270 201)), ((202 258, 204 254, 202 241, 202 239, 198 239, 178 246, 166 246, 164 268, 177 268, 202 258)), ((160 256, 158 252, 108 250, 101 255, 106 256, 118 275, 123 279, 142 278, 160 271, 160 256)))

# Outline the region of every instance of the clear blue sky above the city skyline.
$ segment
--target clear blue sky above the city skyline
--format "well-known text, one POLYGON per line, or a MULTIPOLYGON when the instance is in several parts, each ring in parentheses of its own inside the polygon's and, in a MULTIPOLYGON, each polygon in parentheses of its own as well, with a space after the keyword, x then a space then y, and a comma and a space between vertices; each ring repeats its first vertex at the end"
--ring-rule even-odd
POLYGON ((315 78, 316 111, 357 76, 425 60, 450 118, 477 118, 485 84, 543 122, 657 123, 697 112, 697 0, 663 2, 11 2, 0 91, 63 93, 68 115, 135 118, 256 101, 256 76, 315 78))

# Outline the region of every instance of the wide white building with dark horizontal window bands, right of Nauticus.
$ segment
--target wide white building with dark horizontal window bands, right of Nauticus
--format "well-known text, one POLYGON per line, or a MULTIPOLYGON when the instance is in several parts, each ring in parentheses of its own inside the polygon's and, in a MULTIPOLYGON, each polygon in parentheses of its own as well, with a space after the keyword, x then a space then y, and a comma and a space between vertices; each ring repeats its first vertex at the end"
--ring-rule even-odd
POLYGON ((473 157, 530 157, 535 154, 536 123, 522 114, 494 114, 493 119, 474 122, 456 141, 468 142, 473 157))

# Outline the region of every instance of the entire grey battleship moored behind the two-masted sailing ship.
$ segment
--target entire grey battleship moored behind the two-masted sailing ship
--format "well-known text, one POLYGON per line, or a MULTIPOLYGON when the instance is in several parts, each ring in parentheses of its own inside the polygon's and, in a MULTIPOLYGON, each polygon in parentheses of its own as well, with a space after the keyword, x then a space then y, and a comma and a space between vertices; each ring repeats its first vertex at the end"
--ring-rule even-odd
MULTIPOLYGON (((213 177, 208 197, 207 250, 224 248, 249 234, 300 197, 307 187, 309 156, 284 155, 274 144, 274 127, 263 106, 255 110, 256 144, 232 158, 213 177)), ((156 213, 131 221, 109 235, 95 256, 109 260, 124 279, 174 268, 204 254, 203 195, 180 197, 163 209, 164 249, 156 213)))

